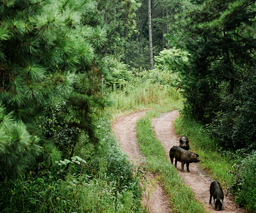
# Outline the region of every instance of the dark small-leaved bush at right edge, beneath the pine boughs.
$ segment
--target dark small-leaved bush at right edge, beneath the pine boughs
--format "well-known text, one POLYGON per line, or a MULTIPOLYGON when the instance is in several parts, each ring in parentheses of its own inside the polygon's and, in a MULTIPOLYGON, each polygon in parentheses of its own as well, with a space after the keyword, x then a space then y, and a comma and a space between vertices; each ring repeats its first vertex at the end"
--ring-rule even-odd
POLYGON ((247 153, 256 148, 255 68, 244 67, 233 94, 223 96, 222 111, 207 126, 207 131, 222 141, 227 148, 245 148, 247 153), (225 104, 225 105, 224 105, 225 104))

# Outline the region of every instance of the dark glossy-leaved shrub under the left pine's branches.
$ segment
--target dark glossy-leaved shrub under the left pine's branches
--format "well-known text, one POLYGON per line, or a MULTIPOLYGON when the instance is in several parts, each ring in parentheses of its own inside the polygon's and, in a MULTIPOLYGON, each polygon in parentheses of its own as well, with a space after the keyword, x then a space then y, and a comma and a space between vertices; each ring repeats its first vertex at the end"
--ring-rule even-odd
MULTIPOLYGON (((40 156, 48 161, 47 155, 59 152, 63 158, 69 158, 74 143, 79 138, 78 127, 72 126, 72 111, 65 101, 57 100, 40 107, 42 114, 37 116, 34 124, 38 134, 47 143, 42 144, 43 153, 40 156)), ((58 160, 55 159, 55 160, 58 160)), ((54 161, 54 158, 53 158, 54 161)))

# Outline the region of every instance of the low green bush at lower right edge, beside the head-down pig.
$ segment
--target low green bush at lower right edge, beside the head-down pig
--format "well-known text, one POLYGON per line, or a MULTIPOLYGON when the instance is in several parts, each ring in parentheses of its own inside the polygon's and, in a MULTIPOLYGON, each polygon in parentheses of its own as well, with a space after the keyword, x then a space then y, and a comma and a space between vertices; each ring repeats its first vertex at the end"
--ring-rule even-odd
POLYGON ((235 201, 240 206, 245 206, 249 212, 256 211, 256 152, 247 154, 246 157, 234 164, 232 174, 233 184, 229 191, 235 196, 235 201))

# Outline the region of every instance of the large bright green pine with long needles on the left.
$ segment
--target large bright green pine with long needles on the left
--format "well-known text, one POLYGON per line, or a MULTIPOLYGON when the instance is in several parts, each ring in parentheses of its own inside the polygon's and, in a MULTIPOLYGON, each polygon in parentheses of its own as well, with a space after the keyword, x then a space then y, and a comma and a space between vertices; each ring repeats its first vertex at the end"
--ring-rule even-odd
POLYGON ((41 149, 29 127, 37 108, 70 89, 68 73, 88 67, 104 42, 104 30, 81 23, 93 7, 91 0, 1 1, 0 175, 15 177, 33 163, 41 149))

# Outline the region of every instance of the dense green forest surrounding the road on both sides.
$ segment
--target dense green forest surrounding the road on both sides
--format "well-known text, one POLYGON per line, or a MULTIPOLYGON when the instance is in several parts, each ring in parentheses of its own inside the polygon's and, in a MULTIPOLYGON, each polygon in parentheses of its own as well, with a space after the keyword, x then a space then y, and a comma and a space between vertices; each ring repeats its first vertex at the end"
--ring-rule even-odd
POLYGON ((145 212, 111 123, 168 97, 255 212, 255 27, 256 0, 0 0, 1 211, 145 212))

